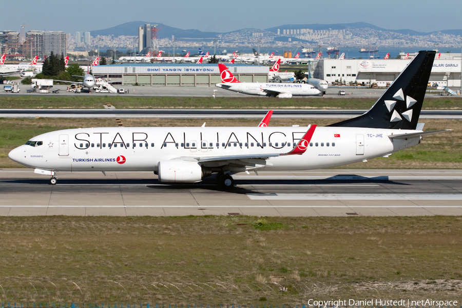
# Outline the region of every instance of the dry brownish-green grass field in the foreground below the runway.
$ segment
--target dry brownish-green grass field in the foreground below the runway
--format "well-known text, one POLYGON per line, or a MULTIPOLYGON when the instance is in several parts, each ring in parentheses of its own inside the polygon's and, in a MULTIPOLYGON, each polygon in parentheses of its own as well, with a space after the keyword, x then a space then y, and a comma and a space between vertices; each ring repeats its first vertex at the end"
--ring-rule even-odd
POLYGON ((3 302, 294 305, 462 294, 460 217, 56 216, 0 226, 3 302))

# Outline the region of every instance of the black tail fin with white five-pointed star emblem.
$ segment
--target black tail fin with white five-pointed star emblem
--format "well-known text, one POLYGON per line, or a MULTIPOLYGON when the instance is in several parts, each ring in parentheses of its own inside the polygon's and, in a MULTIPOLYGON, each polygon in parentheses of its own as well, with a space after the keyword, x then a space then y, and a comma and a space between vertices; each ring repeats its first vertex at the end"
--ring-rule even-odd
POLYGON ((415 129, 436 51, 419 51, 368 112, 329 126, 415 129))

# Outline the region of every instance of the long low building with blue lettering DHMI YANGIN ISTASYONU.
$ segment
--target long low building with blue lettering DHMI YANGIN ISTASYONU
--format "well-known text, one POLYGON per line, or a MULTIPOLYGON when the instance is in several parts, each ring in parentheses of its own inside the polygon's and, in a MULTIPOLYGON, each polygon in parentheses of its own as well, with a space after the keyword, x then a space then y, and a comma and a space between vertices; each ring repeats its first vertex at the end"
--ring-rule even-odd
MULTIPOLYGON (((268 82, 268 66, 229 64, 241 82, 268 82)), ((122 64, 93 66, 95 77, 121 85, 213 87, 221 83, 217 64, 122 64)))

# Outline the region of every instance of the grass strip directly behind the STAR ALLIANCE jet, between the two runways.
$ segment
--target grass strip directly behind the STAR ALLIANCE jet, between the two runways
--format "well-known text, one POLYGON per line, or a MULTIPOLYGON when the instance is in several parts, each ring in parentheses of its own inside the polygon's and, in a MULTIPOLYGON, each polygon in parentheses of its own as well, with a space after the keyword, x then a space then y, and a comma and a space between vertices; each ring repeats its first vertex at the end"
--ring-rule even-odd
MULTIPOLYGON (((272 119, 270 126, 318 124, 338 122, 336 119, 272 119)), ((259 120, 247 119, 123 119, 125 126, 256 126, 259 120)), ((428 120, 425 130, 454 129, 429 136, 421 144, 399 151, 389 158, 376 158, 367 163, 345 165, 343 168, 462 168, 462 121, 428 120)), ((24 144, 33 136, 52 130, 78 127, 117 126, 113 119, 0 119, 0 168, 21 167, 8 158, 8 152, 24 144)))

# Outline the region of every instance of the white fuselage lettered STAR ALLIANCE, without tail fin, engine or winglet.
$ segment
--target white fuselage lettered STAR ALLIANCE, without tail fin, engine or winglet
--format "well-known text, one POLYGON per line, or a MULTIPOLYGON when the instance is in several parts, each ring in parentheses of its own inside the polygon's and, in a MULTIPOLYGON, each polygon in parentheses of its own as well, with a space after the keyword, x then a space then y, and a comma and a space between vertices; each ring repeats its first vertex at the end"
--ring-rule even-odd
MULTIPOLYGON (((66 129, 32 138, 9 153, 31 168, 51 171, 157 171, 158 163, 175 159, 256 156, 287 153, 306 127, 103 127, 66 129)), ((407 130, 406 132, 415 132, 407 130)), ((416 145, 420 137, 394 139, 396 129, 317 127, 303 155, 279 156, 258 168, 306 170, 334 167, 388 155, 416 145)), ((227 159, 229 160, 229 159, 227 159)), ((238 160, 237 160, 238 161, 238 160)), ((220 160, 200 163, 225 165, 220 160)), ((239 165, 239 164, 238 164, 239 165)))

